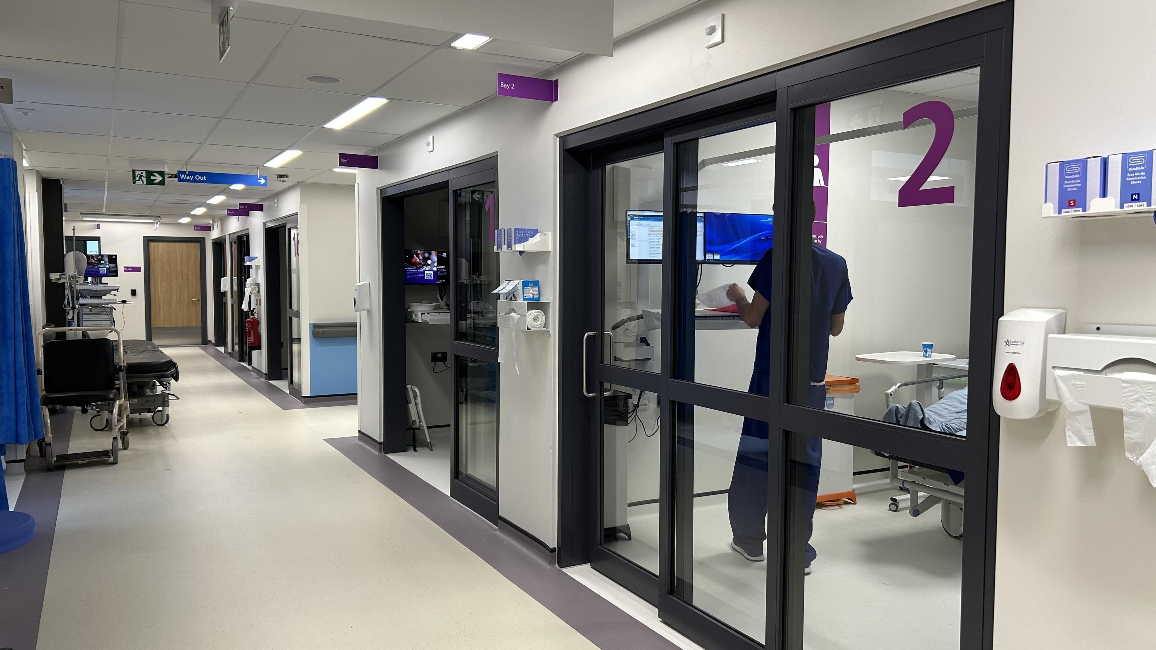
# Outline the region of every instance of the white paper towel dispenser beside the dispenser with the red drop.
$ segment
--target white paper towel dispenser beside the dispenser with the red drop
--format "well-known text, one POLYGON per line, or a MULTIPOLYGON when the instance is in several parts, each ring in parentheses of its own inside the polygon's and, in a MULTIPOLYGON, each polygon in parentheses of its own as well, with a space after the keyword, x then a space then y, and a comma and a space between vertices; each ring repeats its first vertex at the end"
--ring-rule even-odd
MULTIPOLYGON (((1117 327, 1119 331, 1135 330, 1135 326, 1127 325, 1117 327)), ((1114 330, 1111 325, 1092 328, 1101 332, 1114 330)), ((1156 337, 1053 334, 1047 342, 1047 368, 1048 400, 1059 400, 1052 370, 1073 370, 1084 375, 1084 402, 1104 408, 1124 408, 1120 378, 1129 374, 1156 375, 1156 337)))

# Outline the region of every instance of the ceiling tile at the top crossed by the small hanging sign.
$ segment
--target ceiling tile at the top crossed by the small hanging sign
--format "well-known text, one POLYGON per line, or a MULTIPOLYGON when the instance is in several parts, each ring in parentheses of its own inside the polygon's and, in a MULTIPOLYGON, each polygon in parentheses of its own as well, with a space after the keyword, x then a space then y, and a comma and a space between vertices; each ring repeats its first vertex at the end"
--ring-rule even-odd
POLYGON ((205 14, 128 3, 120 65, 129 69, 249 81, 289 28, 234 19, 230 31, 232 49, 218 62, 217 25, 205 14))

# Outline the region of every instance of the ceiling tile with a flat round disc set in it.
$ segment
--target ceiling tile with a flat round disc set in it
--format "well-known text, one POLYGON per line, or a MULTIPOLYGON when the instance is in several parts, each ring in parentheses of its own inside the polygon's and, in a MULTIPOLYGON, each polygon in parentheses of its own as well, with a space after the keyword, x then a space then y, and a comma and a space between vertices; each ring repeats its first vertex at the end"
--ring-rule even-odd
POLYGON ((364 95, 432 50, 429 45, 295 27, 257 81, 269 86, 364 95), (303 79, 311 74, 335 76, 341 81, 321 84, 303 79))

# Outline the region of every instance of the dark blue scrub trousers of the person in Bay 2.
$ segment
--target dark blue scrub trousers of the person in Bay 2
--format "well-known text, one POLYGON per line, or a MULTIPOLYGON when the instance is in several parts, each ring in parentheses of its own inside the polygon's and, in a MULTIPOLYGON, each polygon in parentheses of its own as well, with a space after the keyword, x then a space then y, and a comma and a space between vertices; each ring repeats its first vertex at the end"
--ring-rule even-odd
MULTIPOLYGON (((748 392, 756 394, 770 393, 770 374, 755 370, 750 376, 748 392)), ((808 406, 823 408, 827 402, 827 386, 812 386, 808 406)), ((734 473, 731 475, 731 490, 727 495, 727 509, 731 515, 731 532, 734 542, 751 555, 763 554, 763 542, 766 540, 766 467, 768 467, 768 424, 762 420, 747 418, 742 421, 742 436, 739 438, 739 455, 734 460, 734 473)), ((806 542, 803 566, 809 567, 815 560, 815 547, 810 545, 815 517, 815 498, 818 496, 818 472, 823 463, 823 440, 803 436, 807 445, 803 490, 806 492, 806 542)))

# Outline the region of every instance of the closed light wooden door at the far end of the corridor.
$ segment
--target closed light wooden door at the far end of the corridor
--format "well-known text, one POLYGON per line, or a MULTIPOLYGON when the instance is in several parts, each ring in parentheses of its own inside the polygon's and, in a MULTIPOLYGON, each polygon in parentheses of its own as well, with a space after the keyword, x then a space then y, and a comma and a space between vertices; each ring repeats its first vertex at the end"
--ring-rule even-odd
POLYGON ((201 326, 201 246, 149 242, 149 306, 153 327, 201 326))

